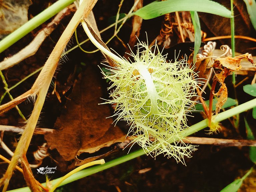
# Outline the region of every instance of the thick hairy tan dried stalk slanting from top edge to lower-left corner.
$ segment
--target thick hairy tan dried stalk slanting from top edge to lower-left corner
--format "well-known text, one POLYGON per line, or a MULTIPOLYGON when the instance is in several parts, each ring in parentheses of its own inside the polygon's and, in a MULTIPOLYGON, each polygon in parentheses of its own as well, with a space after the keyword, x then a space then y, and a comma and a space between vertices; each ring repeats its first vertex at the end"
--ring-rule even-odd
POLYGON ((5 175, 0 181, 0 185, 4 185, 3 191, 6 191, 7 189, 9 180, 12 176, 13 170, 15 169, 15 165, 17 164, 19 158, 21 158, 22 155, 26 154, 27 152, 41 109, 44 104, 44 100, 45 100, 48 88, 50 86, 54 72, 57 68, 61 53, 64 50, 65 46, 67 45, 69 39, 71 38, 74 30, 80 23, 82 17, 84 15, 87 16, 89 14, 89 12, 92 10, 96 2, 97 0, 86 0, 81 4, 79 9, 74 14, 71 21, 69 22, 67 28, 61 35, 51 55, 46 61, 44 68, 42 69, 41 73, 39 74, 38 78, 36 79, 34 85, 31 88, 32 95, 35 96, 38 93, 38 97, 36 99, 35 106, 28 120, 28 123, 25 126, 24 133, 22 134, 20 141, 17 145, 17 148, 14 152, 11 163, 9 164, 5 175))

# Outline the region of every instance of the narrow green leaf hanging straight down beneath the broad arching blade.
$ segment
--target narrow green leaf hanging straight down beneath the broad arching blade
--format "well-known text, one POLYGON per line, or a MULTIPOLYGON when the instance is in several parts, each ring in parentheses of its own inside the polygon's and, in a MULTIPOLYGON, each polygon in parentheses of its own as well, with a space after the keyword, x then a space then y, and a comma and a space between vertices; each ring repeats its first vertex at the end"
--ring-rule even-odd
POLYGON ((193 56, 193 62, 195 63, 196 55, 200 49, 201 46, 201 27, 200 27, 200 21, 199 17, 196 11, 190 11, 192 23, 195 30, 195 46, 194 46, 194 56, 193 56))

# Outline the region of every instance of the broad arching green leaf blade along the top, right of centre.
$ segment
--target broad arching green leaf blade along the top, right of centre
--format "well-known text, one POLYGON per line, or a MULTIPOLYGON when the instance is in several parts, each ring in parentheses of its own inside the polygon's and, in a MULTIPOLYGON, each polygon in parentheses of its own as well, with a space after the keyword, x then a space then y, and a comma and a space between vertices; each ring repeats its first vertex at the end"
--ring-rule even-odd
POLYGON ((219 3, 209 0, 168 0, 150 3, 134 12, 143 19, 152 19, 175 11, 198 11, 231 18, 231 12, 219 3))

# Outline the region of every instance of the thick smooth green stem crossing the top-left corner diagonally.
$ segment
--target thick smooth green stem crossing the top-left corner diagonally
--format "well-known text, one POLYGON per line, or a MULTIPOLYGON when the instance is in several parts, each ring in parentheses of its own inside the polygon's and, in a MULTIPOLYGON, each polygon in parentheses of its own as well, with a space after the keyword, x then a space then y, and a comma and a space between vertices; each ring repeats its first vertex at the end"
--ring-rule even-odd
POLYGON ((59 0, 52 4, 50 7, 42 11, 37 16, 30 19, 27 23, 22 25, 16 31, 12 32, 10 35, 5 37, 0 41, 0 53, 5 49, 13 45, 19 39, 27 35, 30 31, 50 19, 52 16, 60 12, 62 9, 73 3, 75 0, 59 0))

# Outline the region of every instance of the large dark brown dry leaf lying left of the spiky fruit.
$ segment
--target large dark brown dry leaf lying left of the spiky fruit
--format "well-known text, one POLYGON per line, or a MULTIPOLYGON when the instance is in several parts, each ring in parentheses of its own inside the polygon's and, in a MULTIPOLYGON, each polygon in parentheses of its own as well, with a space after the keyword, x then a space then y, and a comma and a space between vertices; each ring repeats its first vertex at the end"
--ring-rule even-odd
POLYGON ((103 102, 98 70, 90 65, 79 79, 55 123, 57 130, 45 135, 51 149, 56 148, 65 161, 123 142, 125 138, 112 124, 113 119, 106 118, 111 116, 109 106, 98 105, 103 102))

